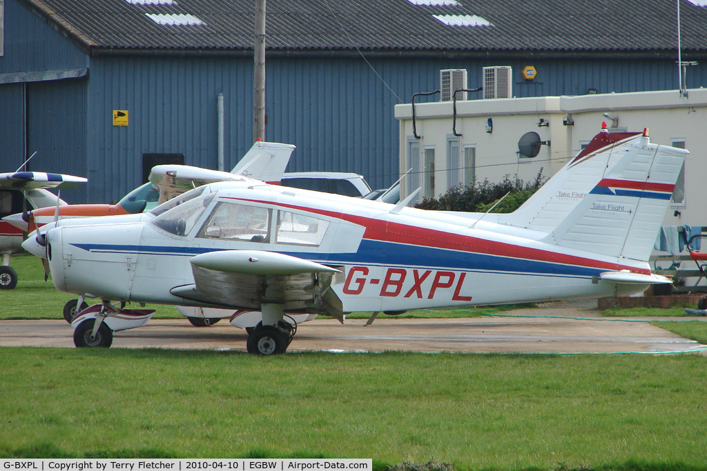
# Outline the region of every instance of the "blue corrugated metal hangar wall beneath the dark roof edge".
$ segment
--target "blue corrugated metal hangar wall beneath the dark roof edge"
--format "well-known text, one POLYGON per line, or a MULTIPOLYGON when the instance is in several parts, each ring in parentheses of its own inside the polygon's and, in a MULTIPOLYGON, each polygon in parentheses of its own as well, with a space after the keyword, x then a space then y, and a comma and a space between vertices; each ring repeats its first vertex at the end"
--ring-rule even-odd
MULTIPOLYGON (((266 138, 294 143, 289 171, 351 171, 374 187, 397 179, 398 128, 393 106, 438 88, 441 68, 467 68, 469 88, 481 68, 513 66, 518 97, 665 90, 677 86, 670 60, 437 61, 432 59, 270 58, 266 138), (536 80, 522 80, 525 65, 536 80)), ((704 67, 691 67, 690 87, 704 67)), ((88 122, 90 201, 113 201, 139 185, 143 153, 183 153, 189 165, 216 168, 216 95, 226 101, 226 167, 252 141, 252 61, 249 58, 100 56, 90 66, 88 122), (112 126, 114 109, 129 126, 112 126)), ((480 94, 479 94, 480 95, 480 94)), ((469 98, 476 97, 470 94, 469 98)), ((433 97, 432 100, 437 100, 433 97)), ((424 101, 424 100, 420 100, 424 101)))

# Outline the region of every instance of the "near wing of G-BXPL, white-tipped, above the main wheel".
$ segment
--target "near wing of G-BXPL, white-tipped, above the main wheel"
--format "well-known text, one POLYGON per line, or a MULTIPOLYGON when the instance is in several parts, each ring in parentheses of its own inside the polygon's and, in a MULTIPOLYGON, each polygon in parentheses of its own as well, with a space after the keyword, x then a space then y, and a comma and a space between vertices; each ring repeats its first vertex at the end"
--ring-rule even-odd
POLYGON ((261 309, 284 304, 285 311, 320 311, 344 320, 331 285, 343 273, 320 263, 262 250, 209 252, 191 259, 194 284, 174 287, 175 296, 215 306, 261 309))

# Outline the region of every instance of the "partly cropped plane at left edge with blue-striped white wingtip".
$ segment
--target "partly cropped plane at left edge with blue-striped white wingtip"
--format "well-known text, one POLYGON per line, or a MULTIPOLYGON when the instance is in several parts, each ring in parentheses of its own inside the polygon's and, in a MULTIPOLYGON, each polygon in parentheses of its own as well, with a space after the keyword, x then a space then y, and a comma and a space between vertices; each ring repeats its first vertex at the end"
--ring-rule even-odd
MULTIPOLYGON (((31 158, 31 157, 30 157, 31 158)), ((24 166, 24 165, 23 165, 24 166)), ((20 217, 36 208, 49 207, 56 211, 66 202, 47 189, 71 188, 87 179, 73 175, 45 172, 10 172, 0 174, 0 218, 20 213, 20 217)), ((12 290, 17 285, 17 273, 10 266, 10 256, 22 251, 27 232, 0 220, 0 290, 12 290)))

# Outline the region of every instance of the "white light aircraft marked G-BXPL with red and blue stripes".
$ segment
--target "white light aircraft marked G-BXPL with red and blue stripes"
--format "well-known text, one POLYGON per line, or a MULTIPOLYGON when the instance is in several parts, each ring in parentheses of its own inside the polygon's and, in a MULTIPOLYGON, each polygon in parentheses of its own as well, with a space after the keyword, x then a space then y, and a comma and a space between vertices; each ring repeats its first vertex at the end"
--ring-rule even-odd
POLYGON ((602 138, 612 141, 597 136, 547 182, 544 200, 518 214, 452 215, 232 182, 148 222, 59 223, 25 248, 46 251, 57 289, 104 300, 74 318, 81 347, 108 346, 113 331, 151 317, 110 301, 260 310, 247 350, 273 354, 291 342, 288 313, 343 321, 351 311, 604 297, 670 282, 650 273, 648 256, 687 152, 651 144, 646 131, 602 138), (577 196, 554 193, 582 165, 602 168, 599 181, 577 196))

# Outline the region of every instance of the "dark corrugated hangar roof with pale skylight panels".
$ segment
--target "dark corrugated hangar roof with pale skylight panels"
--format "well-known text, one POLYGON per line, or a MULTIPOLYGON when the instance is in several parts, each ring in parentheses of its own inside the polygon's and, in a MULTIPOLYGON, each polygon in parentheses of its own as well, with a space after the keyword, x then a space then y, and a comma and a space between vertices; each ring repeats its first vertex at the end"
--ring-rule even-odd
MULTIPOLYGON (((99 50, 246 52, 255 0, 18 0, 99 50)), ((707 6, 679 0, 682 50, 707 6)), ((268 0, 269 51, 674 52, 675 0, 268 0)))

